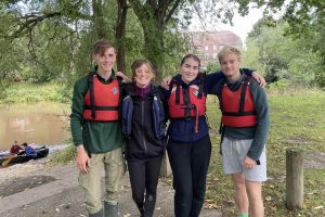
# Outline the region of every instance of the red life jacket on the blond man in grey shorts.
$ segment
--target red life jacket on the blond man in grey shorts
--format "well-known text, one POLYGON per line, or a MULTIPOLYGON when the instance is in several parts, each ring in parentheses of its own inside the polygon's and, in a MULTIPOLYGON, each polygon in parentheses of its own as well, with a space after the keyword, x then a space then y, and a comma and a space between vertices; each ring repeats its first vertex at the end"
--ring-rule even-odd
POLYGON ((251 78, 245 77, 240 87, 232 91, 226 84, 221 92, 221 122, 226 127, 252 127, 257 125, 250 92, 251 78))

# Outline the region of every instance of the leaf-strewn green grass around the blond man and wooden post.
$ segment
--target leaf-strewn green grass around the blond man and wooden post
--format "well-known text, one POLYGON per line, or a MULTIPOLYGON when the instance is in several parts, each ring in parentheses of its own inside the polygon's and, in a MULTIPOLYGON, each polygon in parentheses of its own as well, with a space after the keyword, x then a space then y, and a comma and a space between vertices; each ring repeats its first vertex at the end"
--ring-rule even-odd
MULTIPOLYGON (((206 204, 234 216, 233 186, 222 174, 218 135, 220 113, 209 99, 208 117, 213 143, 207 180, 206 204)), ((304 169, 304 207, 289 212, 285 207, 285 150, 297 148, 308 153, 325 153, 325 92, 295 90, 269 94, 271 129, 266 142, 268 177, 263 186, 265 216, 325 216, 325 169, 304 169), (323 206, 323 207, 322 207, 323 206)))

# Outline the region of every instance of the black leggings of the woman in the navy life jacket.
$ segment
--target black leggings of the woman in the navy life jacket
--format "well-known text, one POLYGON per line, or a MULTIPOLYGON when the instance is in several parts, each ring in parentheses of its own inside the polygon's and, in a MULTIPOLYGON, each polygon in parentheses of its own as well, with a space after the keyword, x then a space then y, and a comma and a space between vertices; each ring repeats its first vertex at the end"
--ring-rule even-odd
POLYGON ((139 209, 144 206, 144 195, 156 203, 161 159, 162 155, 150 159, 128 161, 132 197, 139 209))

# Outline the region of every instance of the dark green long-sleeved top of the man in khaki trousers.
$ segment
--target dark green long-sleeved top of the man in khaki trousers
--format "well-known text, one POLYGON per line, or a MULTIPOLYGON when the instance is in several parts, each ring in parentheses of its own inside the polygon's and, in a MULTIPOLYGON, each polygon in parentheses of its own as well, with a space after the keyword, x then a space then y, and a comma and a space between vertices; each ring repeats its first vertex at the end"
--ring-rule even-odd
MULTIPOLYGON (((109 84, 115 78, 113 73, 108 80, 101 76, 103 84, 109 84)), ((92 122, 83 119, 83 98, 88 91, 88 77, 84 76, 75 82, 70 129, 75 145, 83 144, 90 153, 105 153, 121 148, 123 144, 120 122, 92 122)), ((119 89, 121 92, 121 88, 119 89)))

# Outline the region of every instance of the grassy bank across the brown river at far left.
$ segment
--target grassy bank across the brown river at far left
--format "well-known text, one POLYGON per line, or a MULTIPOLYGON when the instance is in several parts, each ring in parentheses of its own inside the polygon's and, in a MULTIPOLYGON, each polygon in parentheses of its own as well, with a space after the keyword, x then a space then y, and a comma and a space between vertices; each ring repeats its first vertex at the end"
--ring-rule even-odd
POLYGON ((60 82, 13 82, 5 90, 5 98, 0 104, 36 103, 36 102, 67 102, 70 90, 60 82))

